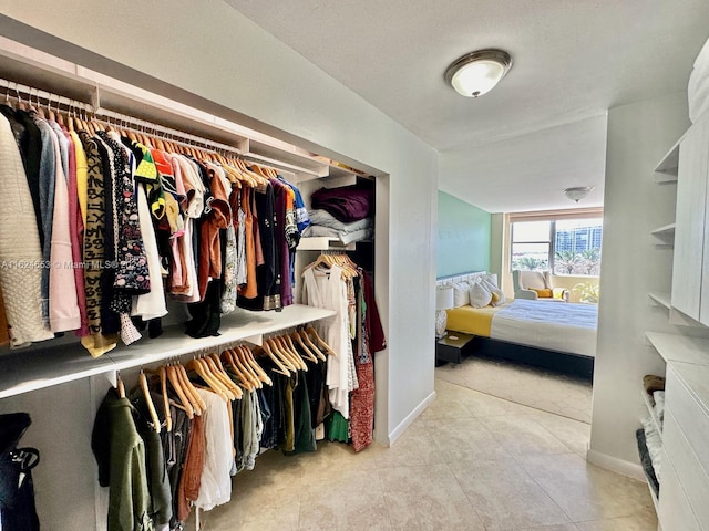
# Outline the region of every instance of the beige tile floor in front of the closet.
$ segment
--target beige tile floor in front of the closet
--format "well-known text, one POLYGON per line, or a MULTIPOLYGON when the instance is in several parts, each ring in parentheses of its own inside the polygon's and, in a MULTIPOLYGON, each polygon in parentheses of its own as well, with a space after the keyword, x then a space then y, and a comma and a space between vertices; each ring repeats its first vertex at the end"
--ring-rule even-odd
MULTIPOLYGON (((645 483, 584 459, 588 424, 443 379, 391 447, 268 451, 203 530, 655 531, 645 483)), ((194 527, 188 527, 188 530, 194 527)))

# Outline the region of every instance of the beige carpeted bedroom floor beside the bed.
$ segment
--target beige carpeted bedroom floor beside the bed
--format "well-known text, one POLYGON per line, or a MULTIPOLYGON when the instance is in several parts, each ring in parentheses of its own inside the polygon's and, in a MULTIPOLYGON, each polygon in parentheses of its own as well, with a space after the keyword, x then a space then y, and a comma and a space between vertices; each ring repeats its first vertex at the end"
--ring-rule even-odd
POLYGON ((530 365, 469 356, 448 363, 435 377, 543 412, 590 424, 590 382, 530 365))

